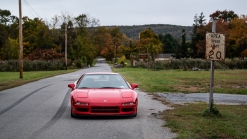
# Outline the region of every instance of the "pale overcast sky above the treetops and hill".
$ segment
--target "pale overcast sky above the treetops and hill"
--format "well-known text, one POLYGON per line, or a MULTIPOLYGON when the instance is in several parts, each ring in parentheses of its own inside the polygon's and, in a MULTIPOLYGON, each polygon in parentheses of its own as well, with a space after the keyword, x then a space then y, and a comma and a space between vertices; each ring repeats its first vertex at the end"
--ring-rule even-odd
MULTIPOLYGON (((19 17, 19 0, 0 0, 0 9, 19 17)), ((247 0, 22 0, 22 15, 50 22, 55 15, 87 14, 100 25, 173 24, 191 26, 194 16, 216 10, 247 15, 247 0)))

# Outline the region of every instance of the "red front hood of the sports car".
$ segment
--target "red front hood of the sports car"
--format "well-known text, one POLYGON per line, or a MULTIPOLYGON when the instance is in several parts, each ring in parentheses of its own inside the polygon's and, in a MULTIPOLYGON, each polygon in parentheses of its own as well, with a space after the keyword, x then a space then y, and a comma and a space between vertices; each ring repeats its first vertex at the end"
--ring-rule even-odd
POLYGON ((118 103, 123 100, 133 100, 134 91, 131 89, 77 89, 78 100, 87 99, 93 103, 118 103))

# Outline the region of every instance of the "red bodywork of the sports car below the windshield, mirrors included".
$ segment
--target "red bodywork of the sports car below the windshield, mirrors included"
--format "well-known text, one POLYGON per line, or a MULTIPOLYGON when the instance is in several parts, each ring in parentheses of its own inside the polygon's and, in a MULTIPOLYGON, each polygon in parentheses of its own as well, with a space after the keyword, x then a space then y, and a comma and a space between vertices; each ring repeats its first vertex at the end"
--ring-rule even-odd
MULTIPOLYGON (((68 86, 73 89, 76 83, 68 86)), ((134 88, 138 85, 128 86, 123 89, 74 88, 70 94, 71 116, 136 116, 138 94, 134 88)))

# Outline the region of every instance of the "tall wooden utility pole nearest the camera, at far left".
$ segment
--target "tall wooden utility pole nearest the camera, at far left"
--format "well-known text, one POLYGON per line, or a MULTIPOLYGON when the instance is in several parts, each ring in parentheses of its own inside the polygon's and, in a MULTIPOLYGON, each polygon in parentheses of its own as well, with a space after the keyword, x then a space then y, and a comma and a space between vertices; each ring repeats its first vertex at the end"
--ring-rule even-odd
POLYGON ((20 68, 20 78, 23 78, 23 37, 22 37, 22 9, 21 0, 19 0, 19 68, 20 68))

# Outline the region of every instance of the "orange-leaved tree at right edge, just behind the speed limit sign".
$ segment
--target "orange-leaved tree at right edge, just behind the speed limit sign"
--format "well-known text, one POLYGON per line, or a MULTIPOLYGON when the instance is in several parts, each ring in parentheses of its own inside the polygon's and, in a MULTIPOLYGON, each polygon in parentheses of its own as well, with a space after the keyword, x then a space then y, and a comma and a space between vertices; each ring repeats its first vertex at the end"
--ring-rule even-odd
POLYGON ((211 20, 217 20, 217 33, 226 36, 226 57, 240 57, 246 49, 246 18, 238 17, 234 11, 216 11, 210 15, 211 20))

